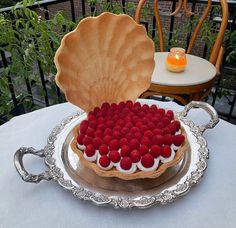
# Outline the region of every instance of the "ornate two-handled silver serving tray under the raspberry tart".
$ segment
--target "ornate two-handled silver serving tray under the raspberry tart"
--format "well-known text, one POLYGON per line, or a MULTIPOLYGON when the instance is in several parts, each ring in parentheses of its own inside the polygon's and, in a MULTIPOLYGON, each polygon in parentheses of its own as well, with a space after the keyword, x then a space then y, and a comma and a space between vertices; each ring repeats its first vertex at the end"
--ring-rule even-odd
MULTIPOLYGON (((141 100, 141 103, 155 104, 153 100, 141 100)), ((198 184, 207 167, 207 142, 203 132, 213 128, 219 121, 214 108, 204 102, 192 101, 182 112, 175 115, 184 127, 190 149, 182 161, 169 168, 156 179, 121 180, 118 178, 100 177, 92 170, 81 166, 78 156, 70 148, 72 129, 80 123, 86 114, 78 112, 56 126, 48 137, 43 150, 20 148, 14 156, 14 164, 22 179, 38 183, 41 180, 54 180, 74 196, 92 201, 96 205, 112 205, 121 208, 146 208, 154 204, 166 204, 186 194, 193 185, 198 184), (206 125, 196 126, 185 118, 189 110, 198 107, 204 109, 211 117, 206 125), (33 175, 26 171, 23 156, 34 154, 45 157, 49 170, 33 175)))

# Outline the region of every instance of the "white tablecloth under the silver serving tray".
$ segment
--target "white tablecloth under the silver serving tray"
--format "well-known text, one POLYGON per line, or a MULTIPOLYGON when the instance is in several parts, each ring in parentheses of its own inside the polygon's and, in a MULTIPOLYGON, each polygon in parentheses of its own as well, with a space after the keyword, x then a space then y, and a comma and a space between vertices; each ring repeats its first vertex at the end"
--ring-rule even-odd
MULTIPOLYGON (((163 107, 182 110, 173 102, 163 107)), ((14 165, 22 146, 42 149, 53 127, 78 108, 69 103, 13 118, 0 126, 0 227, 236 227, 236 126, 223 120, 204 137, 210 159, 201 183, 183 198, 145 210, 97 207, 76 199, 52 181, 22 181, 14 165)), ((197 123, 208 116, 193 110, 197 123)), ((43 159, 26 156, 27 170, 46 169, 43 159)))

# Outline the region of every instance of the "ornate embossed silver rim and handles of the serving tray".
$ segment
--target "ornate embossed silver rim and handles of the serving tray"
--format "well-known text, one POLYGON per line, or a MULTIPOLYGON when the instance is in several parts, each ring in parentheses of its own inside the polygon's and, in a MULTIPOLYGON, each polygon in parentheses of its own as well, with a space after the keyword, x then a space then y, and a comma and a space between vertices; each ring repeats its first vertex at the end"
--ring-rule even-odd
MULTIPOLYGON (((141 103, 147 103, 152 104, 154 103, 151 100, 143 101, 141 100, 141 103)), ((188 105, 185 106, 185 109, 182 112, 175 112, 175 115, 179 118, 179 120, 187 126, 191 134, 196 138, 196 146, 198 146, 198 154, 195 157, 195 164, 194 167, 191 167, 191 172, 188 170, 187 174, 183 176, 179 180, 177 184, 174 184, 171 187, 168 187, 164 189, 163 191, 157 193, 157 194, 150 194, 150 195, 143 195, 140 197, 127 197, 127 196, 118 196, 118 195, 109 195, 109 194, 103 194, 94 191, 91 188, 80 186, 79 184, 73 184, 73 181, 65 178, 65 173, 61 170, 60 167, 56 164, 56 159, 53 157, 55 153, 56 148, 56 140, 58 135, 63 132, 65 126, 69 123, 71 123, 76 118, 83 115, 83 111, 79 111, 68 118, 64 119, 60 125, 56 126, 51 134, 48 137, 47 145, 45 146, 42 154, 36 154, 37 152, 32 152, 32 148, 20 148, 17 152, 22 153, 33 153, 36 155, 39 155, 41 157, 45 156, 45 163, 49 167, 48 171, 45 171, 42 173, 41 179, 45 180, 51 180, 58 182, 59 185, 61 185, 64 189, 70 190, 73 195, 79 199, 83 200, 89 200, 95 203, 96 205, 112 205, 114 207, 120 207, 120 208, 132 208, 132 207, 138 207, 138 208, 147 208, 154 204, 167 204, 170 202, 175 201, 176 199, 180 198, 181 196, 185 195, 189 192, 191 187, 193 185, 196 185, 200 182, 205 169, 207 168, 207 159, 209 158, 209 150, 207 148, 207 142, 202 137, 202 133, 208 129, 213 128, 219 121, 217 113, 215 110, 207 103, 204 102, 191 102, 188 105), (200 107, 203 108, 210 116, 211 120, 206 125, 196 126, 193 121, 185 118, 188 111, 193 107, 200 107), (197 158, 197 159, 196 159, 197 158)), ((188 132, 187 132, 188 133, 188 132)), ((16 152, 16 154, 17 154, 16 152)), ((23 157, 23 155, 22 155, 23 157)), ((192 158, 191 158, 192 159, 192 158)), ((19 164, 17 164, 17 159, 15 159, 15 166, 19 171, 19 164)), ((23 166, 23 164, 20 164, 23 166)), ((25 171, 26 172, 26 171, 25 171)), ((36 179, 32 181, 34 178, 31 174, 24 175, 20 173, 21 177, 24 181, 28 182, 35 182, 38 183, 41 179, 39 179, 39 175, 35 175, 36 179)))

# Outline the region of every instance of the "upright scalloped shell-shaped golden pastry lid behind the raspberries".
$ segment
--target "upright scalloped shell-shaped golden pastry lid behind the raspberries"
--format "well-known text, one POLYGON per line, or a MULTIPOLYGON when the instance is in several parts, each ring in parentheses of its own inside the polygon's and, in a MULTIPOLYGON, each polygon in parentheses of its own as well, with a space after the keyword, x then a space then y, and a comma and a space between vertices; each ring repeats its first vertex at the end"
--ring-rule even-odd
POLYGON ((150 86, 154 52, 145 28, 128 15, 88 17, 62 39, 56 83, 86 112, 105 101, 135 101, 150 86))

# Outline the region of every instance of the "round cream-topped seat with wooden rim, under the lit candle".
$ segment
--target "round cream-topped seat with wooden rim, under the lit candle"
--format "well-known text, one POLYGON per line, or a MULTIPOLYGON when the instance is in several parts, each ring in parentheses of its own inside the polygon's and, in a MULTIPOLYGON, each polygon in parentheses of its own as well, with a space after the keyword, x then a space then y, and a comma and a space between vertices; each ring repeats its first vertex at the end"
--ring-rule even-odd
POLYGON ((142 97, 170 96, 182 104, 204 99, 212 88, 216 76, 215 66, 203 58, 187 54, 185 71, 173 73, 166 70, 167 55, 168 52, 155 53, 156 65, 152 74, 152 84, 142 97))

